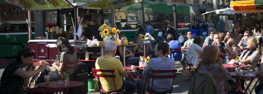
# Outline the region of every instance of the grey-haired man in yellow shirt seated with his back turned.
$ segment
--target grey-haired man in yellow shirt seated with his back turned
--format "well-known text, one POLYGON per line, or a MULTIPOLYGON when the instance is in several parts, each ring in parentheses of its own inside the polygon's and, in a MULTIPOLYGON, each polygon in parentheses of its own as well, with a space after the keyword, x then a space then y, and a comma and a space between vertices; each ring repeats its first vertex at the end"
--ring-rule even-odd
MULTIPOLYGON (((105 52, 106 54, 102 57, 97 58, 97 61, 95 63, 96 69, 103 69, 103 70, 109 70, 114 69, 115 72, 113 73, 116 75, 114 78, 115 85, 117 91, 126 90, 126 94, 133 94, 136 90, 135 84, 122 80, 122 77, 128 77, 127 71, 122 66, 122 62, 120 60, 113 58, 116 54, 117 46, 114 41, 107 41, 105 43, 105 52)), ((102 73, 98 72, 98 74, 104 74, 104 75, 111 75, 111 73, 102 73)), ((105 91, 115 91, 115 86, 113 82, 113 78, 103 78, 100 77, 100 83, 102 84, 102 87, 105 91)))

